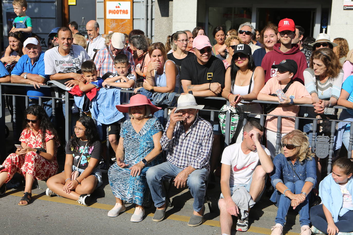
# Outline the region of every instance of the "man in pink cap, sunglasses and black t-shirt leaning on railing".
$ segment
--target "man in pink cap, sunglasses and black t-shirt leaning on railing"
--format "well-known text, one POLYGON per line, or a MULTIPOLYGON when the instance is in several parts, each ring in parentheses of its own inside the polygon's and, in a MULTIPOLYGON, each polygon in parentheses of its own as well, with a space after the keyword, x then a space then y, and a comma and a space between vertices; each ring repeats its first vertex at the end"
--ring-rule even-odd
MULTIPOLYGON (((183 60, 181 63, 181 85, 184 92, 192 91, 196 97, 217 97, 221 95, 224 87, 226 69, 221 60, 211 55, 212 45, 205 35, 194 38, 192 46, 196 56, 183 60)), ((196 98, 198 104, 205 105, 205 109, 220 110, 222 103, 219 100, 196 98)), ((210 112, 201 111, 200 115, 210 121, 210 112)), ((219 123, 215 122, 214 144, 211 156, 211 176, 220 156, 220 136, 219 123)))

